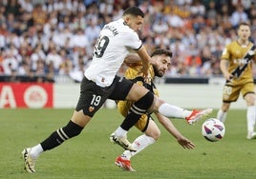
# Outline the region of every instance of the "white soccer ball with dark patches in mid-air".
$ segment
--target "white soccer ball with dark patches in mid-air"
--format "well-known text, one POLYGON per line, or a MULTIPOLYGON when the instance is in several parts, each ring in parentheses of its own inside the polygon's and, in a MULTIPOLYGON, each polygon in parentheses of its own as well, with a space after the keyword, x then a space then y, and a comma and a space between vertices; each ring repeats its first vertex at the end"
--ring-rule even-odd
POLYGON ((210 118, 203 122, 202 135, 210 142, 217 142, 224 137, 224 123, 218 119, 210 118))

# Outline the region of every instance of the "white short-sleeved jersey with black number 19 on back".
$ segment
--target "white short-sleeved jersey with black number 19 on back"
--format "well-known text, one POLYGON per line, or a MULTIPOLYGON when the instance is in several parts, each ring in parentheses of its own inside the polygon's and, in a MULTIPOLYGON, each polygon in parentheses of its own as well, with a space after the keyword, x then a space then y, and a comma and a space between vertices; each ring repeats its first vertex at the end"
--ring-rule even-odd
POLYGON ((110 86, 129 51, 139 50, 141 46, 137 32, 125 25, 123 19, 105 25, 97 39, 93 61, 84 72, 85 77, 100 87, 110 86))

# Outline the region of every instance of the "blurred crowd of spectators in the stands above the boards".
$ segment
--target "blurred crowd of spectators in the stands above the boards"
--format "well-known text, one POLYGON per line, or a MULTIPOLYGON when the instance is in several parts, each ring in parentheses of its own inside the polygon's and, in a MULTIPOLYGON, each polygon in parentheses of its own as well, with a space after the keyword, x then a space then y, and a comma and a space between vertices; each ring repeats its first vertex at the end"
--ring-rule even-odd
POLYGON ((220 55, 242 21, 256 43, 254 0, 1 0, 0 81, 79 81, 101 28, 131 6, 145 13, 148 52, 173 51, 167 76, 221 75, 220 55))

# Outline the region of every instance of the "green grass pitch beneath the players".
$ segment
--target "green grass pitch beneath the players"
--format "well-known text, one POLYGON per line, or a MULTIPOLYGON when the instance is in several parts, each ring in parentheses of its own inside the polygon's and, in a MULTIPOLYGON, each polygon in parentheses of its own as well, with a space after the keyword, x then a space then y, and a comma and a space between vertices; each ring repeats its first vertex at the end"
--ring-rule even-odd
MULTIPOLYGON (((215 117, 216 112, 210 117, 215 117)), ((229 111, 224 139, 216 143, 201 135, 203 121, 188 126, 173 119, 181 133, 196 144, 190 150, 182 149, 157 121, 160 140, 132 158, 137 172, 122 171, 114 165, 122 149, 111 144, 109 136, 122 117, 117 109, 101 109, 79 136, 42 153, 36 173, 25 172, 22 149, 38 144, 66 125, 72 113, 73 109, 0 109, 0 178, 256 178, 256 140, 245 139, 245 109, 229 111)), ((128 139, 132 141, 139 134, 138 129, 131 129, 128 139)))

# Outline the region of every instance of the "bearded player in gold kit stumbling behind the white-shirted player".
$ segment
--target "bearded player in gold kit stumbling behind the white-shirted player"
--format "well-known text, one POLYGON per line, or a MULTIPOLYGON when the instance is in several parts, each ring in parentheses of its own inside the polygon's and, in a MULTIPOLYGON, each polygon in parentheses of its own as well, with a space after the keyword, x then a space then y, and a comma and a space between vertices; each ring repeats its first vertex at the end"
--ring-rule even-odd
MULTIPOLYGON (((139 73, 141 69, 141 61, 138 55, 128 55, 125 59, 125 64, 129 67, 125 71, 125 78, 132 80, 133 82, 139 84, 140 86, 149 89, 154 92, 155 95, 159 96, 159 90, 154 84, 155 76, 162 77, 171 66, 172 52, 170 50, 157 49, 151 54, 151 67, 148 70, 148 78, 144 78, 139 73), (137 62, 137 63, 136 63, 137 62)), ((125 117, 129 110, 131 109, 132 101, 118 101, 117 109, 125 117)), ((160 124, 166 129, 171 135, 173 135, 177 142, 184 149, 194 149, 195 145, 185 138, 181 132, 175 128, 173 123, 169 118, 161 115, 159 112, 154 112, 155 116, 159 120, 160 124)), ((183 119, 182 119, 183 120, 183 119)), ((144 113, 140 116, 139 121, 135 125, 143 134, 139 135, 138 138, 134 140, 132 145, 137 149, 137 151, 131 151, 125 149, 124 152, 117 156, 115 164, 124 170, 135 171, 131 166, 131 158, 138 154, 143 149, 154 144, 160 138, 160 129, 153 120, 152 114, 144 113)))

